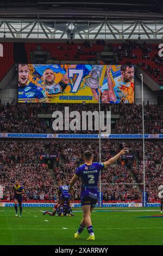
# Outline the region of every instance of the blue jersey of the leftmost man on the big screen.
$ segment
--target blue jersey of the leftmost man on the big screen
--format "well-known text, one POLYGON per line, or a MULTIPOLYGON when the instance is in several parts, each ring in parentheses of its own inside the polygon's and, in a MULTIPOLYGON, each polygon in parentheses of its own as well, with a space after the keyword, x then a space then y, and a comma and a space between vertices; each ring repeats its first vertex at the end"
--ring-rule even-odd
POLYGON ((47 101, 46 92, 39 86, 35 86, 32 82, 28 82, 27 86, 18 87, 18 102, 20 103, 41 103, 47 101))

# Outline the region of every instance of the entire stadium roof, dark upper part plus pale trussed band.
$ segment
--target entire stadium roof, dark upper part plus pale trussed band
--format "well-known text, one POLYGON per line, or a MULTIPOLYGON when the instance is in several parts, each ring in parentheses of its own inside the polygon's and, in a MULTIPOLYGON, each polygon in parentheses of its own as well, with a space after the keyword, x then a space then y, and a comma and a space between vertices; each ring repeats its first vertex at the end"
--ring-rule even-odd
POLYGON ((161 0, 2 1, 0 38, 162 39, 161 0))

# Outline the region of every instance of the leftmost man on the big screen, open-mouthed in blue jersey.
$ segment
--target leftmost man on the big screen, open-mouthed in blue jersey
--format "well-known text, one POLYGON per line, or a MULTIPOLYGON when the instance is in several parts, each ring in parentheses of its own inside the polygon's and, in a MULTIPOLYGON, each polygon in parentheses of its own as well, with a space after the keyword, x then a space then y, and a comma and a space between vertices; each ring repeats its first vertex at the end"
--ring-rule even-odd
POLYGON ((18 102, 46 102, 45 91, 29 81, 29 66, 18 65, 18 102))

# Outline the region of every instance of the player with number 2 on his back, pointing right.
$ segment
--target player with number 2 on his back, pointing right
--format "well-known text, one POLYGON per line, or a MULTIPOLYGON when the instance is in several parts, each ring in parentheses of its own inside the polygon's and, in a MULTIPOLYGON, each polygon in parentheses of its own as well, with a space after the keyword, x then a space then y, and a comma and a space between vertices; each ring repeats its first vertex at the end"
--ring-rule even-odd
POLYGON ((87 228, 89 237, 87 240, 95 240, 95 235, 93 233, 93 227, 91 222, 91 212, 96 206, 98 199, 98 177, 101 170, 108 168, 110 164, 114 163, 121 155, 126 154, 127 148, 123 148, 120 153, 109 159, 104 163, 96 163, 93 161, 93 155, 90 151, 85 151, 84 153, 84 164, 76 169, 76 174, 74 174, 72 180, 70 181, 71 193, 73 185, 79 180, 82 181, 82 192, 80 195, 83 218, 80 222, 79 229, 77 233, 74 234, 75 239, 79 239, 80 234, 87 228))

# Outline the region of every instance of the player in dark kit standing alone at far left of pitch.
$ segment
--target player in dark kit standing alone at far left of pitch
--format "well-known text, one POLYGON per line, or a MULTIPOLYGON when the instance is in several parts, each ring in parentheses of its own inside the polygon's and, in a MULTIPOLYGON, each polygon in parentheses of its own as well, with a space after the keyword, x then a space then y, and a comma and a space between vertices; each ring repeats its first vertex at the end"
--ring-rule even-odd
POLYGON ((22 217, 22 194, 24 194, 24 188, 20 185, 18 180, 15 181, 15 185, 13 187, 14 190, 14 204, 15 204, 15 216, 17 217, 17 203, 20 208, 20 217, 22 217))

